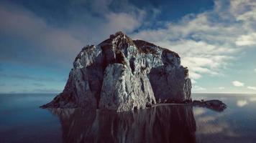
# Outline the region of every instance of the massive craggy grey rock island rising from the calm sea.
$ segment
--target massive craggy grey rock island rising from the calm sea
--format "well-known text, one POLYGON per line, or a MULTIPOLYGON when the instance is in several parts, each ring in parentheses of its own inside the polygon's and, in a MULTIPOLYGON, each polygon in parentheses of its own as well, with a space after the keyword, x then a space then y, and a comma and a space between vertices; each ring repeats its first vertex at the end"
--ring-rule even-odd
POLYGON ((156 99, 191 100, 188 69, 180 56, 122 32, 76 57, 61 94, 43 107, 83 107, 117 112, 145 108, 156 99))

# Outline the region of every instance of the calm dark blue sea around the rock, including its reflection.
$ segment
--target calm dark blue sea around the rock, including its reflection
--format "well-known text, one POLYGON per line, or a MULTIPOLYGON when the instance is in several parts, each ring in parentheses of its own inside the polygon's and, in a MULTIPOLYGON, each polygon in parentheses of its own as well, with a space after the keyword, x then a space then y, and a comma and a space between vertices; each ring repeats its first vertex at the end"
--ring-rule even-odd
POLYGON ((224 112, 183 105, 137 112, 40 109, 55 94, 0 94, 0 142, 256 142, 256 95, 220 99, 224 112))

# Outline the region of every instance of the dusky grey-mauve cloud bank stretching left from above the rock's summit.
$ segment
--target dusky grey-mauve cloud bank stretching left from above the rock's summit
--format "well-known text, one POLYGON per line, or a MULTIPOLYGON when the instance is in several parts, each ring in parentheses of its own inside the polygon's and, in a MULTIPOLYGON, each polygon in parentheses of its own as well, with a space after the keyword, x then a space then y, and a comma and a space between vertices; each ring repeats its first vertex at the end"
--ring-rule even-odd
POLYGON ((5 39, 0 41, 0 60, 5 63, 51 64, 54 65, 52 67, 63 64, 70 67, 76 54, 86 44, 100 42, 116 31, 132 32, 143 24, 147 14, 144 10, 127 3, 120 8, 122 11, 111 11, 111 2, 114 1, 70 2, 70 9, 65 9, 70 20, 63 24, 54 21, 58 22, 58 26, 50 22, 50 16, 39 16, 16 4, 1 3, 0 17, 4 20, 0 21, 0 32, 5 39), (91 6, 91 11, 84 9, 83 5, 91 6), (100 16, 95 16, 95 13, 100 16), (13 42, 11 39, 18 40, 13 42))

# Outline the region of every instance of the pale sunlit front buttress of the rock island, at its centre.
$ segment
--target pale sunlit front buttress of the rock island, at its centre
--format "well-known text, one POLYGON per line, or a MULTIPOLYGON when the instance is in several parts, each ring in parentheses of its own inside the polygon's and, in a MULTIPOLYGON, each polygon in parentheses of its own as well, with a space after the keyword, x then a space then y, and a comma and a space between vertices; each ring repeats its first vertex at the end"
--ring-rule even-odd
POLYGON ((155 97, 145 74, 134 75, 124 64, 106 67, 99 108, 129 111, 145 108, 147 102, 155 103, 155 97))

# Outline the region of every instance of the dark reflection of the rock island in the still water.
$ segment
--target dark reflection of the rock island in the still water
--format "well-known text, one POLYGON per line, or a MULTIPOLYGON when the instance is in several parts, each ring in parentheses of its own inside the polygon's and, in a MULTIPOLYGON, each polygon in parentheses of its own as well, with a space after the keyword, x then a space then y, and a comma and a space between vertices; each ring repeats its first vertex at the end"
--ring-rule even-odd
POLYGON ((63 142, 196 142, 191 106, 162 106, 137 112, 50 109, 60 119, 63 142))

